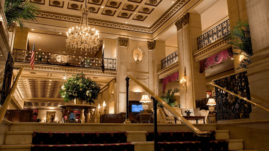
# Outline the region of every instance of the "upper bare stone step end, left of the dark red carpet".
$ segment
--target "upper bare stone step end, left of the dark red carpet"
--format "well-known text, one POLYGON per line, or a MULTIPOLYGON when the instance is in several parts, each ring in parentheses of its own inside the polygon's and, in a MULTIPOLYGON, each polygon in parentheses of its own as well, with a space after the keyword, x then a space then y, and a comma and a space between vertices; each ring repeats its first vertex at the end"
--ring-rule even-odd
POLYGON ((30 144, 33 131, 7 131, 5 144, 30 144))

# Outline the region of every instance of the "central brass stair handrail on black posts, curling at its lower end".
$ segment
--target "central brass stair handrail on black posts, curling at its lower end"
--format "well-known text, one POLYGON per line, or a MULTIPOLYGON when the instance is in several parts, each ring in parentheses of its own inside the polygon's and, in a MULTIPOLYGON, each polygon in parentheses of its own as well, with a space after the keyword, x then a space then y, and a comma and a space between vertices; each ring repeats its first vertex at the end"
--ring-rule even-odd
POLYGON ((140 87, 142 87, 146 92, 148 92, 153 98, 155 98, 159 103, 161 103, 162 106, 167 108, 169 112, 171 112, 177 119, 179 119, 185 126, 190 128, 194 134, 197 136, 207 136, 209 137, 211 132, 209 131, 200 131, 198 128, 196 128, 193 124, 191 124, 189 121, 187 121, 184 117, 182 117, 178 112, 176 112, 171 106, 169 106, 164 100, 160 98, 160 96, 156 95, 154 92, 152 92, 150 89, 148 89, 145 85, 143 85, 141 82, 137 81, 135 78, 133 78, 131 75, 126 75, 126 77, 129 77, 131 80, 136 82, 140 87))

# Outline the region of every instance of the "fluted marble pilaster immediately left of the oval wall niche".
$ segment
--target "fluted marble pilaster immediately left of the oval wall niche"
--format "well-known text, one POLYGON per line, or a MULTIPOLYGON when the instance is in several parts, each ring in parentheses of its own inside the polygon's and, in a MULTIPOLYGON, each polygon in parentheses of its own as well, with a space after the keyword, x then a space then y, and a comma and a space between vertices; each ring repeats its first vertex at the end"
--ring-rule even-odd
POLYGON ((127 44, 128 38, 118 38, 117 59, 117 113, 126 112, 127 44))

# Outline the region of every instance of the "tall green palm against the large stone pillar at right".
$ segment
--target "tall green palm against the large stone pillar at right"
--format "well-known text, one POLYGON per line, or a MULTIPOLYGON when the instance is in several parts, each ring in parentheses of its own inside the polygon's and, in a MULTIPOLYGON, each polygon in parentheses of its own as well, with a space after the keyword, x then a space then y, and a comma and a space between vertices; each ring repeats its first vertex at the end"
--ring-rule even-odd
POLYGON ((244 56, 236 70, 247 69, 247 65, 251 63, 249 57, 253 55, 248 21, 239 20, 223 39, 233 46, 233 55, 244 56))

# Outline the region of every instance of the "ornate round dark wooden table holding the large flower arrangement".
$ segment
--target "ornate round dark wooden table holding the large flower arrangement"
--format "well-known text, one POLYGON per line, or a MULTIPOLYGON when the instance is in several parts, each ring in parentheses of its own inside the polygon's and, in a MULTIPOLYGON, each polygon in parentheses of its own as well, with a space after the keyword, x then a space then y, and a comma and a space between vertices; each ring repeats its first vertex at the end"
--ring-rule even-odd
POLYGON ((67 123, 70 123, 69 120, 69 116, 72 113, 72 110, 84 110, 84 116, 85 116, 85 122, 84 123, 88 123, 88 113, 91 114, 91 120, 89 123, 93 123, 94 122, 94 113, 92 112, 93 109, 96 109, 97 106, 94 105, 86 105, 86 104, 68 104, 68 105, 59 105, 58 107, 61 107, 62 110, 62 119, 66 116, 67 119, 67 123), (66 110, 65 114, 63 112, 63 110, 66 110))

